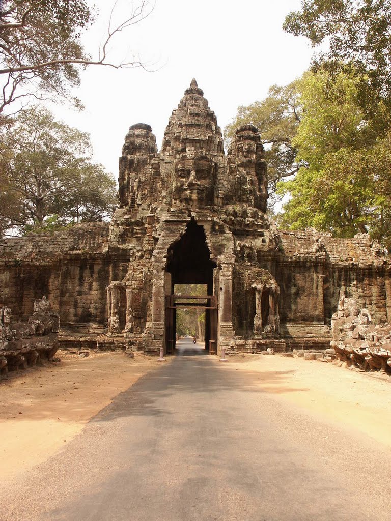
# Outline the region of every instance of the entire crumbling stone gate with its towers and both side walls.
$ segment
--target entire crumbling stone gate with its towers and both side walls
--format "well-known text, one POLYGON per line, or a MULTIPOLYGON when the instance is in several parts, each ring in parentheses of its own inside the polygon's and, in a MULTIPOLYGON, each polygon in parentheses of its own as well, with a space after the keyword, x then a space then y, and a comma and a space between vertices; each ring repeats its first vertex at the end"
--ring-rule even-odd
POLYGON ((160 152, 132 125, 119 159, 110 224, 8 239, 4 302, 19 319, 47 294, 63 347, 175 349, 176 284, 204 284, 211 352, 326 349, 339 291, 382 324, 391 313, 388 261, 368 235, 334 239, 277 230, 266 216, 260 135, 237 129, 228 153, 193 80, 169 118, 160 152))

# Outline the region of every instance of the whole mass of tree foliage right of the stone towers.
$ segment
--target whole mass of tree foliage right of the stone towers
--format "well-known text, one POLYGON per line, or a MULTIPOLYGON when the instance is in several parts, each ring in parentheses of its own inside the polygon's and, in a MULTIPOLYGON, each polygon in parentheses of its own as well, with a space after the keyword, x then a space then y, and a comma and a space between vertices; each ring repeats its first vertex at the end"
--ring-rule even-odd
POLYGON ((370 232, 390 249, 391 0, 303 0, 284 29, 328 47, 312 72, 239 107, 226 133, 259 128, 269 190, 289 196, 280 226, 370 232))

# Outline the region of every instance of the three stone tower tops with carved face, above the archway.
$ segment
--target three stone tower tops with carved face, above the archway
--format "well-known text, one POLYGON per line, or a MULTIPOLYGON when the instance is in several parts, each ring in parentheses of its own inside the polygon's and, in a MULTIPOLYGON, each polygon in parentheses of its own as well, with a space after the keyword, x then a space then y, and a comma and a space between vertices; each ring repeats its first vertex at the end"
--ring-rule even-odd
POLYGON ((149 125, 130 127, 118 181, 121 207, 151 203, 192 210, 241 203, 266 211, 258 131, 240 127, 226 155, 216 116, 194 79, 169 118, 160 153, 149 125))

